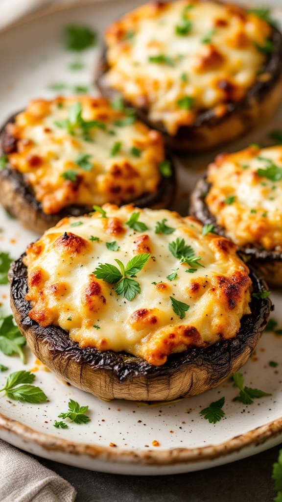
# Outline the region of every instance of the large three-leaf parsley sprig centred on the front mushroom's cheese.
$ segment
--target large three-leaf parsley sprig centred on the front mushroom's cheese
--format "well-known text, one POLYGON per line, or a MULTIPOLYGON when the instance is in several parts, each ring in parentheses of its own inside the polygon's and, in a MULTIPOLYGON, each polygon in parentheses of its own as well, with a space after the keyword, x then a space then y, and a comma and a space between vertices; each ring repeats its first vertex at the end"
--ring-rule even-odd
POLYGON ((114 284, 113 288, 117 295, 123 295, 129 302, 133 300, 137 293, 140 293, 140 286, 137 281, 131 279, 131 277, 136 277, 137 272, 143 269, 144 265, 148 262, 150 258, 149 253, 143 253, 142 255, 137 255, 131 258, 127 263, 126 267, 119 261, 115 260, 118 264, 120 271, 115 265, 110 265, 109 263, 99 264, 92 274, 94 274, 97 279, 103 279, 103 281, 114 284))

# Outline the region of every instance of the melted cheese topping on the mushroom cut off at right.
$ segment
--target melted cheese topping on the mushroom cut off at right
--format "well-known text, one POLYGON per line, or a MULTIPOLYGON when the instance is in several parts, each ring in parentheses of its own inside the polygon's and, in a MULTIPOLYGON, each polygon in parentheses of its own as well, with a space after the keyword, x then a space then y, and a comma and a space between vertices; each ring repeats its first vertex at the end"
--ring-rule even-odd
POLYGON ((209 166, 207 181, 212 186, 206 203, 236 244, 282 250, 281 178, 280 146, 261 150, 251 146, 235 154, 220 155, 209 166), (277 171, 278 181, 269 168, 272 173, 277 171), (270 179, 263 176, 264 170, 270 179))

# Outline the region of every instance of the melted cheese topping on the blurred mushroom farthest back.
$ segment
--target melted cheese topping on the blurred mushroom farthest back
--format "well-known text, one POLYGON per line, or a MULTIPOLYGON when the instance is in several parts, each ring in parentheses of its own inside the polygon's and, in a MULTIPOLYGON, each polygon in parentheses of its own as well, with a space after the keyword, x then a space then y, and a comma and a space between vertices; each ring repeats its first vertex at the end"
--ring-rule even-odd
POLYGON ((235 6, 151 2, 107 29, 106 83, 173 136, 199 111, 215 108, 222 116, 226 103, 245 96, 261 78, 266 56, 258 46, 270 34, 267 23, 235 6))

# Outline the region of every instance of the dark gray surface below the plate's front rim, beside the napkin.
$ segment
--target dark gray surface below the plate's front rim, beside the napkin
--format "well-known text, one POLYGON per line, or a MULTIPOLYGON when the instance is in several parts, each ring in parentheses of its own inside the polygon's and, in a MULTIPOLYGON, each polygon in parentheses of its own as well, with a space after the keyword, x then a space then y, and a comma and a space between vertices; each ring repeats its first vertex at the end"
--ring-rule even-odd
POLYGON ((75 486, 76 502, 273 502, 272 464, 279 449, 173 476, 104 474, 36 458, 75 486))

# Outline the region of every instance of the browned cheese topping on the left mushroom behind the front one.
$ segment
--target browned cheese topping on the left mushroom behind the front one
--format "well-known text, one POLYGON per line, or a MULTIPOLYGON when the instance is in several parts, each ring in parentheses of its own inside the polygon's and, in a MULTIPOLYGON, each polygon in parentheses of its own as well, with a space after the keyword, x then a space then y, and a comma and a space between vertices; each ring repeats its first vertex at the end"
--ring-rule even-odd
POLYGON ((8 134, 17 139, 9 162, 24 174, 46 214, 71 204, 119 205, 157 191, 159 164, 165 158, 163 140, 140 122, 116 125, 124 118, 128 117, 105 99, 60 97, 32 101, 15 124, 9 124, 8 134), (81 103, 82 118, 98 121, 98 127, 84 131, 76 126, 68 132, 66 120, 76 101, 81 103), (86 166, 77 164, 83 155, 86 166))

